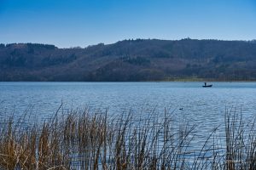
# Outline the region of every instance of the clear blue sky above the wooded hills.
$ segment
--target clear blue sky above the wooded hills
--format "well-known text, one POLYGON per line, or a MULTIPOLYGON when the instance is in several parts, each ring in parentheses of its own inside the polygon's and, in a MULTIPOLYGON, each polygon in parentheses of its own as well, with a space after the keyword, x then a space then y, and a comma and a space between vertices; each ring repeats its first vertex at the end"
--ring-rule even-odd
POLYGON ((256 0, 0 0, 0 42, 256 39, 256 0))

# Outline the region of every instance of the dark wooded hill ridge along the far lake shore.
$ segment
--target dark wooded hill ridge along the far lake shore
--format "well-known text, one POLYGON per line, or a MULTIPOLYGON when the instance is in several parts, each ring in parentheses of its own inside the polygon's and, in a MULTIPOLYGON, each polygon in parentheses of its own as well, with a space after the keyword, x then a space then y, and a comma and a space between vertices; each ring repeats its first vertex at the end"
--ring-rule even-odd
POLYGON ((0 44, 0 81, 256 80, 256 41, 125 40, 87 48, 0 44))

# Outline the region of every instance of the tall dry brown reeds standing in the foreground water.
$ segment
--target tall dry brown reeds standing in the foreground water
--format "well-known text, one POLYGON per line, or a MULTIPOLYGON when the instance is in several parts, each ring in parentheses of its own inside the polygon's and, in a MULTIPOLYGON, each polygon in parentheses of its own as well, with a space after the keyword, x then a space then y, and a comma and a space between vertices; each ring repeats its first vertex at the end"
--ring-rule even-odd
POLYGON ((166 110, 140 118, 88 109, 59 109, 39 123, 27 117, 2 119, 0 169, 256 169, 255 122, 234 109, 196 150, 200 131, 166 110))

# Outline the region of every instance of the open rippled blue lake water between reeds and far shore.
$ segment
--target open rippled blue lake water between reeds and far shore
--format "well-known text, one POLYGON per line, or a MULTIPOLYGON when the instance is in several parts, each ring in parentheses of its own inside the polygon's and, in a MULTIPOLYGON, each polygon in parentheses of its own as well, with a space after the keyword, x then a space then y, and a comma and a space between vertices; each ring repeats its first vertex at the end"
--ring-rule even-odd
MULTIPOLYGON (((123 111, 165 108, 201 126, 224 121, 225 108, 236 107, 243 116, 256 114, 256 82, 0 82, 1 114, 21 114, 28 109, 38 116, 53 115, 61 102, 66 109, 108 108, 109 115, 123 111), (183 110, 179 110, 183 108, 183 110)), ((212 127, 212 126, 211 126, 212 127)))

